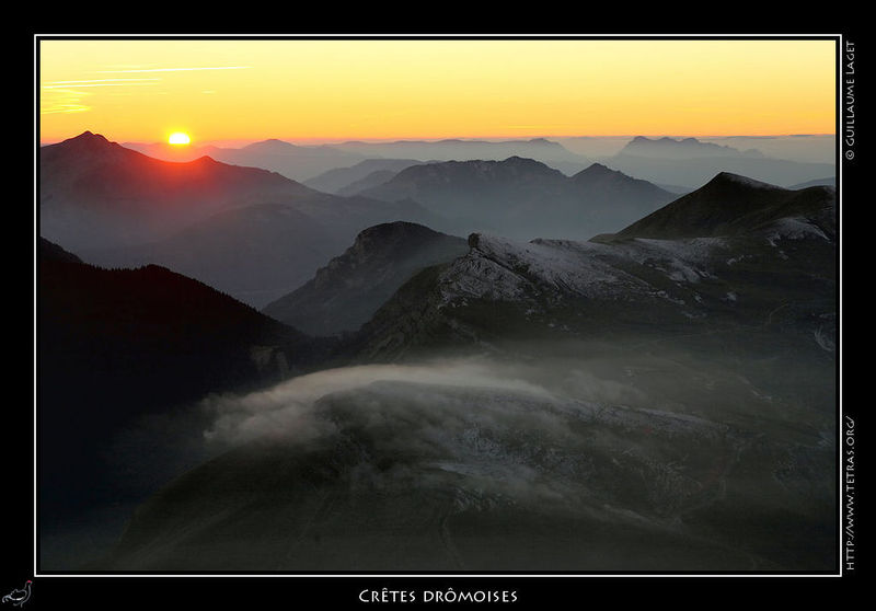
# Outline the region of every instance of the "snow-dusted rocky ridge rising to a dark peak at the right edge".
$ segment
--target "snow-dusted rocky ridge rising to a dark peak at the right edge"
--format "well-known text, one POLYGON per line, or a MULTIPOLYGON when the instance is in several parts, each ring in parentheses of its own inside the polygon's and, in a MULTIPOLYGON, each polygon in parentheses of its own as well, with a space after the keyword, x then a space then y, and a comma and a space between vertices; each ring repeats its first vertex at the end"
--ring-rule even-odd
POLYGON ((436 338, 587 336, 649 321, 673 333, 734 326, 783 303, 789 326, 830 346, 834 223, 830 187, 792 192, 722 174, 587 242, 474 233, 465 256, 424 270, 378 311, 362 330, 365 350, 394 358, 436 338))

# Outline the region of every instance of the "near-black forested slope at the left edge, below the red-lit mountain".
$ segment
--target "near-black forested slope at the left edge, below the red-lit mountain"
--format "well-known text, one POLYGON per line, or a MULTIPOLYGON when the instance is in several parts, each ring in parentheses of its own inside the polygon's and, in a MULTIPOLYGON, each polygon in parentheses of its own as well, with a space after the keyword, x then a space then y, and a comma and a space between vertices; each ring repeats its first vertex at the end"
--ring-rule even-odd
MULTIPOLYGON (((47 529, 146 494, 130 471, 148 472, 162 458, 114 454, 122 431, 211 392, 275 382, 326 351, 163 267, 102 269, 41 240, 38 275, 39 516, 47 529)), ((152 439, 146 451, 164 441, 152 439)))

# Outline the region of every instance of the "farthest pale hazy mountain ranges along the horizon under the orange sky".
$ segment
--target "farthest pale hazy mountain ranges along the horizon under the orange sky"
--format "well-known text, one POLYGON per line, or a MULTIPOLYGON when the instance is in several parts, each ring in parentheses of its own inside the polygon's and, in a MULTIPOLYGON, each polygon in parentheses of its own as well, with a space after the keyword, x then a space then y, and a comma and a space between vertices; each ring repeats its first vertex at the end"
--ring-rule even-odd
MULTIPOLYGON (((768 154, 758 148, 742 150, 717 143, 715 139, 712 140, 636 136, 623 145, 614 155, 593 159, 637 178, 658 185, 680 185, 691 191, 706 183, 718 172, 738 173, 786 187, 835 173, 832 163, 815 162, 816 159, 825 158, 823 151, 821 151, 828 142, 825 138, 807 139, 810 142, 817 142, 817 146, 820 147, 818 154, 809 155, 805 154, 805 150, 798 150, 800 147, 794 147, 794 138, 719 139, 730 143, 738 141, 756 147, 759 143, 769 145, 772 152, 768 154), (786 159, 782 154, 783 152, 789 157, 786 159), (808 161, 809 159, 812 161, 808 161), (679 161, 689 163, 679 164, 679 161)), ((796 140, 803 141, 804 139, 797 138, 796 140)), ((575 139, 573 138, 572 141, 575 139)), ((364 185, 347 188, 343 193, 341 191, 349 187, 354 182, 364 180, 366 175, 361 172, 368 164, 373 165, 371 172, 381 172, 379 178, 388 180, 390 170, 402 170, 394 160, 426 163, 429 161, 502 161, 509 157, 521 157, 541 161, 568 176, 592 163, 592 159, 572 152, 558 141, 546 138, 348 141, 320 146, 298 146, 270 139, 238 149, 214 146, 173 147, 166 143, 143 145, 137 142, 127 142, 124 146, 165 161, 193 161, 208 155, 223 163, 262 168, 295 181, 303 181, 308 186, 318 191, 341 195, 351 195, 377 184, 378 176, 373 176, 364 185), (364 161, 368 163, 359 166, 364 161), (385 161, 387 164, 381 165, 381 161, 385 161), (351 170, 353 168, 356 170, 351 170), (338 172, 334 173, 336 170, 338 172)), ((612 145, 610 148, 616 150, 618 147, 620 143, 612 145)))

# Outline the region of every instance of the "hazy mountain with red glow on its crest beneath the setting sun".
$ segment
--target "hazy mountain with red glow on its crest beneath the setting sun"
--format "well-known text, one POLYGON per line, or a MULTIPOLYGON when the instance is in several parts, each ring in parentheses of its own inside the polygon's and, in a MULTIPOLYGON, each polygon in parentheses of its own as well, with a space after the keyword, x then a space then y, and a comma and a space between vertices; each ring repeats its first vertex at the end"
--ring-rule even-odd
POLYGON ((255 307, 380 222, 440 226, 413 201, 320 193, 256 168, 165 162, 85 132, 41 150, 41 232, 106 267, 159 264, 255 307))

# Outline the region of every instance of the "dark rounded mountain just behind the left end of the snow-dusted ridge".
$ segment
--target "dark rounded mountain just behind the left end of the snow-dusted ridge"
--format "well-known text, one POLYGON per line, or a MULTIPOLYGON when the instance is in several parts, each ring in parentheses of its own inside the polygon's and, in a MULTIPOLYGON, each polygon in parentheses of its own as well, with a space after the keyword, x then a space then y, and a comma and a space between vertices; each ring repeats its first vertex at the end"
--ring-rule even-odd
POLYGON ((262 311, 311 335, 354 332, 414 274, 468 251, 462 238, 420 224, 371 227, 315 277, 262 311))

